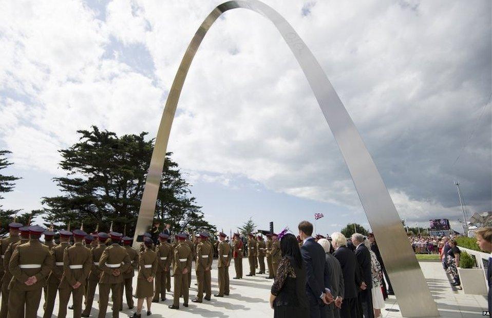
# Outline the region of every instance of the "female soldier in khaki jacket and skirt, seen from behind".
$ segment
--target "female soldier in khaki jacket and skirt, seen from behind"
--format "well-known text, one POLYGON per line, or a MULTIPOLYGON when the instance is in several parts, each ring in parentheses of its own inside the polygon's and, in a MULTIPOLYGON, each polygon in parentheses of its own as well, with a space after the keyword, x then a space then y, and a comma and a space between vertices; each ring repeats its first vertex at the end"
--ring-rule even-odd
POLYGON ((154 297, 154 279, 157 272, 157 253, 150 247, 153 245, 152 238, 144 237, 144 251, 138 257, 138 278, 137 278, 137 312, 131 317, 140 318, 144 300, 147 301, 147 316, 151 315, 150 306, 154 297))

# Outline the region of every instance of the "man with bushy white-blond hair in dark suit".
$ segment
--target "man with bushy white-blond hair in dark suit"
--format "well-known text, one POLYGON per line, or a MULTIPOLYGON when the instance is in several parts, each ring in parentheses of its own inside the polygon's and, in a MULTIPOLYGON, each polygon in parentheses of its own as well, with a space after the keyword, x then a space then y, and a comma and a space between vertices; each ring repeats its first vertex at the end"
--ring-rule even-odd
POLYGON ((356 318, 357 317, 357 290, 361 285, 360 278, 356 275, 356 268, 358 267, 355 254, 347 247, 347 238, 340 232, 331 234, 331 244, 335 251, 333 256, 338 260, 342 267, 342 273, 344 275, 344 287, 345 293, 342 302, 342 308, 340 308, 340 317, 342 318, 356 318))

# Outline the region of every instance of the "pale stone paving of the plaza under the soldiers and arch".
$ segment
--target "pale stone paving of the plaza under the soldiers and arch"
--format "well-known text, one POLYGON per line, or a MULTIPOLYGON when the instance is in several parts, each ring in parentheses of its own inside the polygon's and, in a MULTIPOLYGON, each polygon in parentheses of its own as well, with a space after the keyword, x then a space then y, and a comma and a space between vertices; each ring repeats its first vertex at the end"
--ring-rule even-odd
MULTIPOLYGON (((151 317, 217 317, 217 318, 236 318, 236 317, 253 317, 253 318, 265 318, 273 317, 273 310, 268 303, 270 296, 270 287, 272 280, 267 280, 264 275, 257 275, 255 277, 244 277, 242 280, 233 280, 234 266, 229 268, 229 275, 231 277, 231 293, 229 296, 218 298, 212 296, 210 302, 203 301, 202 304, 195 304, 191 302, 196 295, 196 276, 193 272, 192 287, 190 289, 190 307, 185 308, 181 306, 179 310, 168 309, 167 306, 172 304, 172 292, 167 294, 167 300, 158 304, 152 304, 151 317)), ((436 300, 439 308, 439 312, 442 317, 450 318, 466 318, 477 317, 482 315, 482 311, 487 308, 487 300, 485 296, 480 295, 465 295, 463 291, 457 290, 450 285, 449 279, 446 273, 441 267, 441 263, 438 262, 420 262, 420 266, 424 272, 424 276, 427 280, 427 284, 430 287, 430 291, 434 300, 436 300)), ((248 259, 243 259, 243 272, 248 273, 248 259)), ((137 280, 134 277, 134 291, 137 280)), ((218 289, 217 284, 217 268, 212 270, 212 293, 216 293, 218 289)), ((96 300, 98 294, 96 293, 96 300)), ((43 301, 42 301, 43 303, 43 301)), ((70 302, 71 304, 71 302, 70 302)), ((135 300, 135 306, 137 302, 135 300)), ((97 301, 94 301, 94 308, 92 308, 91 317, 97 317, 98 308, 97 301)), ((108 306, 108 310, 111 305, 108 306)), ((126 306, 125 300, 123 300, 123 311, 120 312, 120 317, 127 317, 128 314, 134 310, 129 310, 126 306)), ((145 306, 144 306, 145 308, 145 306)), ((383 317, 401 317, 399 311, 388 311, 386 309, 398 310, 398 304, 394 296, 390 296, 386 300, 386 308, 383 309, 383 317)), ((55 304, 55 310, 53 316, 58 313, 58 298, 55 304)), ((70 311, 68 312, 70 316, 70 311)), ((142 311, 145 316, 145 309, 142 311)), ((38 315, 43 315, 42 305, 38 311, 38 315)), ((111 313, 108 312, 106 317, 111 317, 111 313)))

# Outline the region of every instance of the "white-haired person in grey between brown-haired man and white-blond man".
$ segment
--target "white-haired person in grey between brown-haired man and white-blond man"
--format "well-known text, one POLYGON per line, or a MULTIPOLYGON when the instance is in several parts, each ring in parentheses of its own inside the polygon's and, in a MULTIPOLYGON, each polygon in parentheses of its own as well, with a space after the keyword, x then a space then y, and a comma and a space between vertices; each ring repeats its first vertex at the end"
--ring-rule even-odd
POLYGON ((340 307, 342 307, 342 301, 345 293, 344 275, 342 273, 342 266, 340 262, 335 259, 335 256, 330 254, 331 243, 326 238, 320 238, 318 244, 323 246, 325 250, 326 263, 328 264, 328 272, 330 277, 331 294, 335 300, 328 305, 327 317, 340 317, 340 307))

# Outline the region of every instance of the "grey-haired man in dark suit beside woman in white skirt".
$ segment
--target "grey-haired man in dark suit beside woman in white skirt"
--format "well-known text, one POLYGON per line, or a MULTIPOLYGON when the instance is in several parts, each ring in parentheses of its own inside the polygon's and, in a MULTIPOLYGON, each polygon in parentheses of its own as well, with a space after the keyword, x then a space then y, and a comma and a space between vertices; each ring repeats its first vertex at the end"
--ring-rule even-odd
POLYGON ((359 233, 352 234, 352 243, 355 246, 355 257, 361 267, 361 279, 363 284, 359 292, 365 318, 374 318, 374 309, 372 308, 372 274, 371 274, 371 253, 364 244, 364 235, 359 233))

